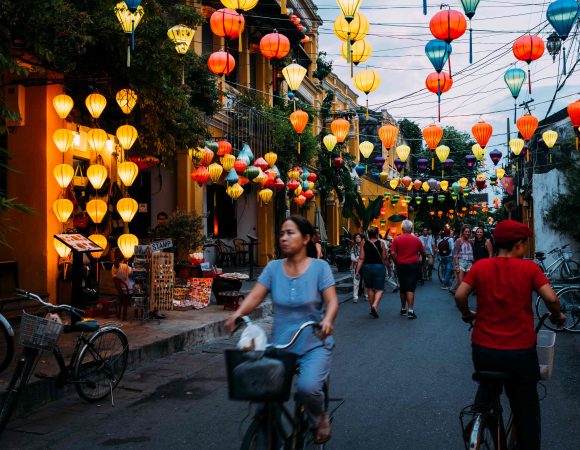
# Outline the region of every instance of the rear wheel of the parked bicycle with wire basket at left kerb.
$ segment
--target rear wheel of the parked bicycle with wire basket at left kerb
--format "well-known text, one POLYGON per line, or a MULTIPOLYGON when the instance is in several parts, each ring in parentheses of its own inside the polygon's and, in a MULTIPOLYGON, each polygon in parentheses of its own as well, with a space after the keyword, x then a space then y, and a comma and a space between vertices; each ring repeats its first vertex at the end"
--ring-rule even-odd
POLYGON ((118 328, 95 333, 75 362, 74 380, 79 396, 88 402, 102 400, 123 378, 129 356, 127 336, 118 328))

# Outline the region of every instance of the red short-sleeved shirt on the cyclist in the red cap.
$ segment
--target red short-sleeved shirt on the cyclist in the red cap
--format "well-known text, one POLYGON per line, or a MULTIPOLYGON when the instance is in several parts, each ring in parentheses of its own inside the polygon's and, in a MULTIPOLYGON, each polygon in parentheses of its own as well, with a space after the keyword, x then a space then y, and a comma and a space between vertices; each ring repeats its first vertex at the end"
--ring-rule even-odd
POLYGON ((532 293, 549 283, 535 262, 481 259, 463 281, 477 291, 477 319, 471 336, 474 344, 499 350, 535 345, 532 293))

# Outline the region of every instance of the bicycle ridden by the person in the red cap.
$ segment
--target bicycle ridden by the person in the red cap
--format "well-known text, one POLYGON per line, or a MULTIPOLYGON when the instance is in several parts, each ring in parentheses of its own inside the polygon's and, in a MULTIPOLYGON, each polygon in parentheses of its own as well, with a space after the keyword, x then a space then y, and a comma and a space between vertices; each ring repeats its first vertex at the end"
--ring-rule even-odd
MULTIPOLYGON (((540 319, 536 326, 536 334, 538 334, 542 324, 549 315, 547 313, 540 319)), ((473 324, 471 324, 470 329, 472 327, 473 324)), ((546 331, 545 333, 551 332, 546 331)), ((553 333, 551 335, 554 336, 553 333)), ((552 348, 554 339, 551 341, 552 348)), ((540 361, 540 364, 542 362, 544 361, 540 361)), ((551 363, 548 362, 548 364, 551 363)), ((551 377, 551 367, 546 370, 546 373, 549 373, 549 375, 545 378, 542 376, 542 379, 551 377)), ((491 400, 487 405, 473 404, 461 410, 459 421, 461 422, 465 449, 517 450, 518 444, 513 415, 510 411, 506 425, 503 419, 503 407, 501 405, 501 393, 504 383, 509 379, 508 374, 499 371, 481 371, 475 372, 472 379, 487 389, 491 400), (470 418, 467 424, 465 423, 466 418, 470 418)))

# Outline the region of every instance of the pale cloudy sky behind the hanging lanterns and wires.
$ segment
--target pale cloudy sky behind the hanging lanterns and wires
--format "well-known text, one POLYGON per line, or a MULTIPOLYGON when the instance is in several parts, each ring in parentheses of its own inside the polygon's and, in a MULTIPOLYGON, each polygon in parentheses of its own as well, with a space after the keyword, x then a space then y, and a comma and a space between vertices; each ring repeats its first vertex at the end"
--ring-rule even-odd
MULTIPOLYGON (((396 119, 408 118, 421 128, 437 120, 437 95, 425 88, 425 78, 434 70, 425 56, 424 47, 434 39, 429 30, 429 20, 440 10, 440 3, 427 1, 426 16, 423 15, 422 0, 362 0, 359 10, 369 19, 367 40, 373 47, 370 59, 361 63, 359 68, 376 69, 382 78, 378 90, 369 95, 370 106, 376 109, 384 107, 396 119)), ((355 89, 347 62, 340 56, 342 41, 333 31, 334 21, 341 11, 335 0, 316 0, 315 3, 324 21, 319 29, 319 50, 327 52, 334 62, 334 72, 355 89)), ((459 0, 447 0, 446 3, 452 9, 463 11, 459 0)), ((541 0, 480 1, 472 21, 473 64, 469 64, 469 23, 468 31, 452 43, 454 84, 442 96, 442 126, 452 125, 471 133, 471 127, 484 120, 494 127, 487 146, 488 153, 492 148, 505 153, 506 119, 510 118, 511 137, 516 137, 517 129, 513 124, 514 101, 503 76, 511 67, 527 71, 527 64, 517 61, 513 55, 512 42, 530 30, 533 34, 541 30, 540 36, 545 40, 553 31, 546 20, 549 4, 541 0)), ((570 36, 564 43, 568 68, 579 57, 579 41, 580 36, 570 36)), ((532 94, 528 94, 527 85, 524 85, 518 104, 534 99, 531 112, 542 120, 561 77, 561 61, 556 57, 556 62, 552 62, 546 49, 530 68, 532 94)), ((359 103, 363 105, 365 95, 359 94, 359 103)), ((558 92, 550 114, 577 99, 580 99, 580 64, 558 92)), ((522 114, 522 109, 518 109, 518 117, 522 114)))

